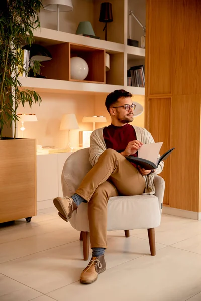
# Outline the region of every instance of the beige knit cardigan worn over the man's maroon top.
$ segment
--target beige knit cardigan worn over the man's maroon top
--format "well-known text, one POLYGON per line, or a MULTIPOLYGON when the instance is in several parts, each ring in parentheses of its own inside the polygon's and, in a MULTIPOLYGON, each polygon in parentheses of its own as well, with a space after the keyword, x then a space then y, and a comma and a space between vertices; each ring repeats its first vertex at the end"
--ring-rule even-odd
MULTIPOLYGON (((100 155, 104 152, 104 150, 106 150, 106 143, 103 137, 103 129, 104 127, 94 130, 90 137, 89 160, 92 166, 97 163, 100 155)), ((142 142, 143 144, 154 143, 152 135, 145 128, 134 126, 134 129, 138 141, 142 142)), ((160 155, 158 155, 158 158, 159 157, 160 155)), ((148 176, 143 176, 146 182, 146 188, 144 192, 145 194, 155 194, 155 186, 153 183, 154 174, 160 174, 163 170, 163 166, 164 162, 161 161, 155 173, 148 176)))

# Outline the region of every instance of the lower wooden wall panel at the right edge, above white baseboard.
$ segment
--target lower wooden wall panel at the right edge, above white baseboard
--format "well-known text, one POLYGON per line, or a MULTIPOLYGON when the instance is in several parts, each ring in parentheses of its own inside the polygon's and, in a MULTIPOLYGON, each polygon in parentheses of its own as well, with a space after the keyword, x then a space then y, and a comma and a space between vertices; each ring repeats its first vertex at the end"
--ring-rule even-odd
POLYGON ((199 211, 200 95, 172 97, 170 206, 199 211))

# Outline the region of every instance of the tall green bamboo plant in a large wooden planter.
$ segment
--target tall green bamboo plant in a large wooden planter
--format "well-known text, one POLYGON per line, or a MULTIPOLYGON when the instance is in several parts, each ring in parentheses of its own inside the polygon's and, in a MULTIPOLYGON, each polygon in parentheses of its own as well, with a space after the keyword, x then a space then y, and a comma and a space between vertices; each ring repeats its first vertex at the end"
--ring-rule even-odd
MULTIPOLYGON (((40 0, 1 0, 0 4, 0 223, 36 215, 36 141, 16 139, 20 104, 41 102, 38 93, 22 89, 18 76, 23 66, 22 43, 34 42, 40 27, 40 0), (4 132, 13 127, 10 137, 4 132)), ((37 66, 32 67, 36 72, 37 66)))

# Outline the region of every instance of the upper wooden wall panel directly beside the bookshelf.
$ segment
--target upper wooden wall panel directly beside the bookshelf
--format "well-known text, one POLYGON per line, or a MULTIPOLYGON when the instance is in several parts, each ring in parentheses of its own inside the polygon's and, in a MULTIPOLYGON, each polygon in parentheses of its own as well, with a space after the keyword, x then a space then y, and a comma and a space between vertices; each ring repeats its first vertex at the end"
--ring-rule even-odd
POLYGON ((146 9, 146 95, 169 94, 172 1, 147 1, 146 9))

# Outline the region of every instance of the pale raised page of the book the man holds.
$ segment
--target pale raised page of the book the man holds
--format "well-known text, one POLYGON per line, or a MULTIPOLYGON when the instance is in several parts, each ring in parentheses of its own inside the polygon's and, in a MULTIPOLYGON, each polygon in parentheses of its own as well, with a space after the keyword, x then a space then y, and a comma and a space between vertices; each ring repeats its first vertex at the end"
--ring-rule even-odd
POLYGON ((149 160, 157 165, 157 157, 163 142, 144 144, 138 150, 138 157, 149 160))

